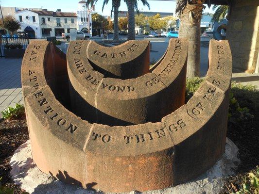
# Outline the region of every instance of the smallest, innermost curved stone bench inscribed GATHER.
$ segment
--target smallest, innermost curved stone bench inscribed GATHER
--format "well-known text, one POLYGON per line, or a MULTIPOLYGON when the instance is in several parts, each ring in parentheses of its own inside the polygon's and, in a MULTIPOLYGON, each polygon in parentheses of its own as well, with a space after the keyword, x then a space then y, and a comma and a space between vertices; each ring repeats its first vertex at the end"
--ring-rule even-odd
POLYGON ((90 41, 87 58, 106 77, 130 79, 149 72, 149 41, 129 40, 114 47, 104 47, 90 41))

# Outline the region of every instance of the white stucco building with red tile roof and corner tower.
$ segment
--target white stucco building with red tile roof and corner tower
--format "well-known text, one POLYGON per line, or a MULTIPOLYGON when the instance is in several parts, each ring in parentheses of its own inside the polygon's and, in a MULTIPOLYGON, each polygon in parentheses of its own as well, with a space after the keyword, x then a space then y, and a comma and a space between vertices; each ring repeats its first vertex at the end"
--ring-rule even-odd
POLYGON ((61 12, 60 9, 53 12, 41 8, 17 7, 2 7, 2 12, 3 16, 15 17, 21 24, 18 32, 27 32, 30 38, 60 38, 63 32, 69 33, 70 29, 91 33, 91 13, 84 0, 78 2, 77 13, 61 12))

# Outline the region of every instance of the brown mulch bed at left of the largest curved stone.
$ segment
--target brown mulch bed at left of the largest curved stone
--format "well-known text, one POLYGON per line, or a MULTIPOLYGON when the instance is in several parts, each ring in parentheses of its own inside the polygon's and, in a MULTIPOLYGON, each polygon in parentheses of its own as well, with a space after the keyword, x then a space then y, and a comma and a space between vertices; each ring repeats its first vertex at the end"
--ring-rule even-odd
POLYGON ((12 181, 9 173, 11 157, 18 146, 29 139, 25 116, 17 120, 0 121, 0 177, 2 184, 15 190, 14 194, 24 192, 12 181))

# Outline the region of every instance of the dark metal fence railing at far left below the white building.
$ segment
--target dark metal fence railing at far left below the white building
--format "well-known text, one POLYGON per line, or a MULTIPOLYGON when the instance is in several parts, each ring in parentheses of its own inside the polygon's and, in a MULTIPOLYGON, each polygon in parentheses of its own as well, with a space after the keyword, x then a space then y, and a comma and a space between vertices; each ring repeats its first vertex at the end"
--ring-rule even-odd
POLYGON ((29 45, 28 37, 8 38, 0 37, 0 57, 4 57, 4 49, 26 49, 29 45))

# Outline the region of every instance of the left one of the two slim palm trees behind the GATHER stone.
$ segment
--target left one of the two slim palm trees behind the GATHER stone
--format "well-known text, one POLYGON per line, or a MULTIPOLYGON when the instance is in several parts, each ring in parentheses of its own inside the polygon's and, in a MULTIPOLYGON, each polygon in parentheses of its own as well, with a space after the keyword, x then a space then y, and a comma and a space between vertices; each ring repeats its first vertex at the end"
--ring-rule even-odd
MULTIPOLYGON (((98 0, 87 0, 86 6, 93 6, 98 0)), ((102 11, 104 11, 104 6, 109 2, 109 0, 104 0, 102 11)), ((119 7, 121 5, 121 0, 112 0, 112 11, 113 14, 113 40, 119 40, 119 22, 118 22, 118 14, 119 7)))

